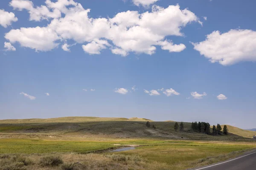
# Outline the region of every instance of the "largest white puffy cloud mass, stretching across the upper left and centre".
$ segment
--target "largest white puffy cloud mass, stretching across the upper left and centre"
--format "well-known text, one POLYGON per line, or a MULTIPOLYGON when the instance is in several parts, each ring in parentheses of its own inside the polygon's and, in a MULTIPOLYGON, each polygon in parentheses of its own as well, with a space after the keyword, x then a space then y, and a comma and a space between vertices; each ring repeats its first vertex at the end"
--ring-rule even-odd
MULTIPOLYGON (((153 2, 150 1, 136 2, 153 2)), ((30 20, 46 19, 49 22, 46 27, 11 30, 5 36, 10 42, 19 42, 36 51, 50 51, 58 47, 59 41, 74 40, 82 44, 83 50, 89 54, 100 54, 108 48, 113 54, 121 56, 130 52, 151 55, 155 53, 156 46, 169 52, 180 52, 186 46, 175 44, 166 37, 183 36, 181 29, 187 24, 201 23, 192 11, 187 8, 182 10, 179 5, 167 8, 153 5, 151 11, 141 14, 124 11, 112 18, 92 18, 89 16, 90 9, 84 9, 74 0, 46 0, 42 6, 34 6, 29 0, 12 0, 10 6, 27 10, 30 20)), ((62 48, 68 50, 67 45, 62 48)))

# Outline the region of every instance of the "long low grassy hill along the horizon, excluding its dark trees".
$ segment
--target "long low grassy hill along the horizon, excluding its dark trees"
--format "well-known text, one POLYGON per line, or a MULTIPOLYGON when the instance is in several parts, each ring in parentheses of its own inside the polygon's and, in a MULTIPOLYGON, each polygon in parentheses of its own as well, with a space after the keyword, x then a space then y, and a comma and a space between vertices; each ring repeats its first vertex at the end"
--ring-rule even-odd
MULTIPOLYGON (((180 122, 179 122, 180 123, 180 122)), ((109 136, 123 137, 164 137, 169 139, 209 139, 224 140, 224 138, 239 136, 252 138, 256 133, 227 125, 229 136, 209 136, 204 133, 189 133, 190 122, 183 122, 186 132, 175 132, 173 121, 154 122, 150 119, 133 117, 127 118, 101 118, 101 117, 61 117, 50 119, 6 119, 0 120, 0 133, 18 134, 61 134, 77 136, 109 136), (149 121, 154 128, 147 128, 145 122, 149 121)), ((223 125, 222 125, 223 128, 223 125)))

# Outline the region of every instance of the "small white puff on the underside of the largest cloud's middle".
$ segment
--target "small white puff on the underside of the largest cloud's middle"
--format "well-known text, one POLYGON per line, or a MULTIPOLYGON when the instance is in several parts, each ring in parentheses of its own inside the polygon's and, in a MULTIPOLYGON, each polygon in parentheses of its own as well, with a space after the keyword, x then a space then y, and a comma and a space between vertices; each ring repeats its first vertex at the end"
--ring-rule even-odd
POLYGON ((84 49, 84 52, 89 54, 100 54, 102 49, 107 48, 106 45, 109 46, 109 43, 106 40, 93 40, 87 45, 82 45, 82 48, 84 49))

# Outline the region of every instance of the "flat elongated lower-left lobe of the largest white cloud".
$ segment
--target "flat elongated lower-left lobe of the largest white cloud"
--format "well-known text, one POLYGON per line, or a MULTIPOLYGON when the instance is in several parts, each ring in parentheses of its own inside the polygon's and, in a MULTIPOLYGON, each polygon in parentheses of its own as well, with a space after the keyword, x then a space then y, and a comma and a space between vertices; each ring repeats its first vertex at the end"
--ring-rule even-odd
POLYGON ((6 33, 5 38, 10 42, 19 42, 23 47, 35 51, 49 51, 58 46, 59 40, 56 32, 48 27, 12 29, 6 33))

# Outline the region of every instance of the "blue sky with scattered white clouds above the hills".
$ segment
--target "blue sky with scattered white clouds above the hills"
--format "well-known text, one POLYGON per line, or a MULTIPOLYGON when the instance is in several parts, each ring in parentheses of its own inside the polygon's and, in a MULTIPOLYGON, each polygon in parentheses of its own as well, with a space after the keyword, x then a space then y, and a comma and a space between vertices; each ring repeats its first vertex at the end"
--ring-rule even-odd
POLYGON ((143 117, 253 128, 255 5, 1 1, 0 119, 143 117))

